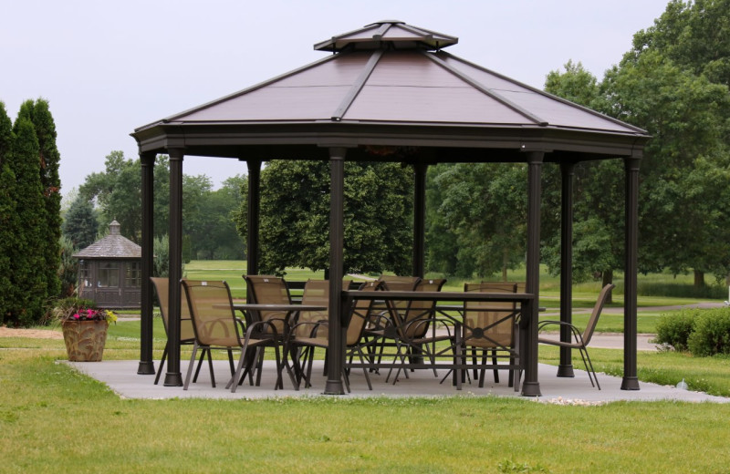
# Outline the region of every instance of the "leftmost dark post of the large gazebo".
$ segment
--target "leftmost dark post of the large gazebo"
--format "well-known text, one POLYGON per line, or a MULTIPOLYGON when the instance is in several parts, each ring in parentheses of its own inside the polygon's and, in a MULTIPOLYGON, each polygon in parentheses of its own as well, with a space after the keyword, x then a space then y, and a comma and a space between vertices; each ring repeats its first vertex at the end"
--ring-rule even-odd
POLYGON ((154 375, 152 361, 152 260, 154 239, 154 159, 156 153, 140 153, 142 236, 141 236, 141 308, 140 308, 140 366, 137 374, 154 375))

